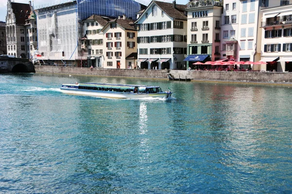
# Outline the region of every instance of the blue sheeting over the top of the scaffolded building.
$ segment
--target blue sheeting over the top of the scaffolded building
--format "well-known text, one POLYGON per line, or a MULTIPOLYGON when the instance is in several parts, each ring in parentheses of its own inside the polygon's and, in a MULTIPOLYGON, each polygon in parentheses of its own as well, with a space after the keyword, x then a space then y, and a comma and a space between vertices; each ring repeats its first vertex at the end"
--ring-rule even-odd
POLYGON ((107 17, 123 16, 136 19, 140 11, 140 3, 133 0, 77 0, 78 19, 86 19, 91 15, 107 17))

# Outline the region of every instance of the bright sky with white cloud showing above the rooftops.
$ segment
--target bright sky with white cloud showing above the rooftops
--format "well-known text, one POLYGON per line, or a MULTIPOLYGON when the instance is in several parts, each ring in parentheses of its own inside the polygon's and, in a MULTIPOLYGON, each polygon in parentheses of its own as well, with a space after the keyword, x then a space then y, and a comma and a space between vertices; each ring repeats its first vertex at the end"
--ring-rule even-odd
MULTIPOLYGON (((27 3, 29 0, 12 0, 14 2, 18 2, 18 3, 27 3)), ((43 5, 43 4, 49 4, 49 3, 53 3, 55 2, 60 2, 62 0, 48 0, 48 1, 44 1, 44 0, 31 0, 32 4, 35 6, 39 6, 39 5, 43 5)), ((141 0, 143 2, 146 3, 150 3, 151 0, 141 0)), ((160 0, 160 1, 165 1, 165 2, 172 2, 172 0, 160 0)), ((177 4, 186 4, 187 0, 176 0, 177 4)), ((5 17, 6 17, 6 13, 7 13, 7 0, 0 0, 0 21, 5 21, 5 17)))

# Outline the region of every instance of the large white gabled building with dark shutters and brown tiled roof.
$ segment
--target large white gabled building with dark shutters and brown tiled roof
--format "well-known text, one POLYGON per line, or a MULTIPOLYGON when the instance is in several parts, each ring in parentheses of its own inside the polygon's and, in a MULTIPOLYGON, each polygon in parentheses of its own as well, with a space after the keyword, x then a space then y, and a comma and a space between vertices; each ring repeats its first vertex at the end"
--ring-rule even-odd
POLYGON ((153 0, 135 21, 142 69, 185 69, 186 5, 153 0))

